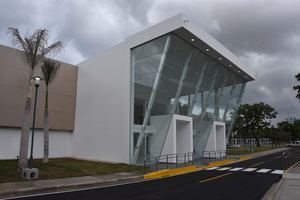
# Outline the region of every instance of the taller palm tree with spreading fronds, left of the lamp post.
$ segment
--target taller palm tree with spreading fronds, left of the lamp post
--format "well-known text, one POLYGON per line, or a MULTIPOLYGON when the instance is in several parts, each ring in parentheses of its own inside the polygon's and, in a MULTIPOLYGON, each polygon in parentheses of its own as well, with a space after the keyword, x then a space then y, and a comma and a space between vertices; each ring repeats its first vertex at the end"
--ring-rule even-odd
POLYGON ((62 48, 62 42, 58 41, 47 46, 48 30, 46 29, 38 29, 32 35, 23 37, 17 28, 8 28, 8 34, 13 45, 21 50, 21 56, 30 69, 19 153, 19 167, 24 168, 27 167, 28 163, 29 115, 32 101, 32 76, 34 69, 44 59, 45 55, 60 50, 62 48))

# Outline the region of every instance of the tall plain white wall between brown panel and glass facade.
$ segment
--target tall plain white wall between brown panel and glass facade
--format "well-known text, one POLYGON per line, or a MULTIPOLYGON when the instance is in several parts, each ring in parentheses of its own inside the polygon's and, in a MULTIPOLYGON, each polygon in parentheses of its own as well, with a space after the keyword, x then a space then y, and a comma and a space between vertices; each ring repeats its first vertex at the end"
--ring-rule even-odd
POLYGON ((129 162, 130 62, 122 43, 78 64, 74 157, 129 162))

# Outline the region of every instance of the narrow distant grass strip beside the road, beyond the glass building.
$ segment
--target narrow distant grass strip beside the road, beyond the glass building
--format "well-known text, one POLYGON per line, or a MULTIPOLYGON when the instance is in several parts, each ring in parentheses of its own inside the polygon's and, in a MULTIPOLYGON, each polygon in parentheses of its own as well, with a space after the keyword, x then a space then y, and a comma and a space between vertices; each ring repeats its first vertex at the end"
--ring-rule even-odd
POLYGON ((250 147, 228 147, 227 155, 245 155, 251 154, 255 152, 267 151, 272 149, 277 149, 282 146, 260 146, 260 147, 252 147, 252 151, 250 147))

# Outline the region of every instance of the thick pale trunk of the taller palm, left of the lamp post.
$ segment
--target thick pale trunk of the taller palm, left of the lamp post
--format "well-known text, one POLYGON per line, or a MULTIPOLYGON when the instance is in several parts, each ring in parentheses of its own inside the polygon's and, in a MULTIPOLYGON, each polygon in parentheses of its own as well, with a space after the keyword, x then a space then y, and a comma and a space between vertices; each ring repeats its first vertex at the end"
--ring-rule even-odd
POLYGON ((20 140, 20 152, 19 152, 19 167, 25 168, 28 164, 28 144, 29 144, 29 132, 30 132, 30 111, 32 100, 32 74, 27 86, 27 96, 25 103, 25 110, 23 116, 23 126, 20 140))

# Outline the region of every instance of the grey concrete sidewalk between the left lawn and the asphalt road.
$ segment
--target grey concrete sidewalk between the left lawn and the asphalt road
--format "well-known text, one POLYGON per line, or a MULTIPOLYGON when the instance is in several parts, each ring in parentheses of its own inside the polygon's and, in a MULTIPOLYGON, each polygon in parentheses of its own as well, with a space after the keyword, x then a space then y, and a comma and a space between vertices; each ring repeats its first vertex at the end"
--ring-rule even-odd
POLYGON ((138 180, 143 180, 143 176, 140 172, 124 172, 101 176, 2 183, 0 184, 0 199, 44 192, 109 186, 138 180))

